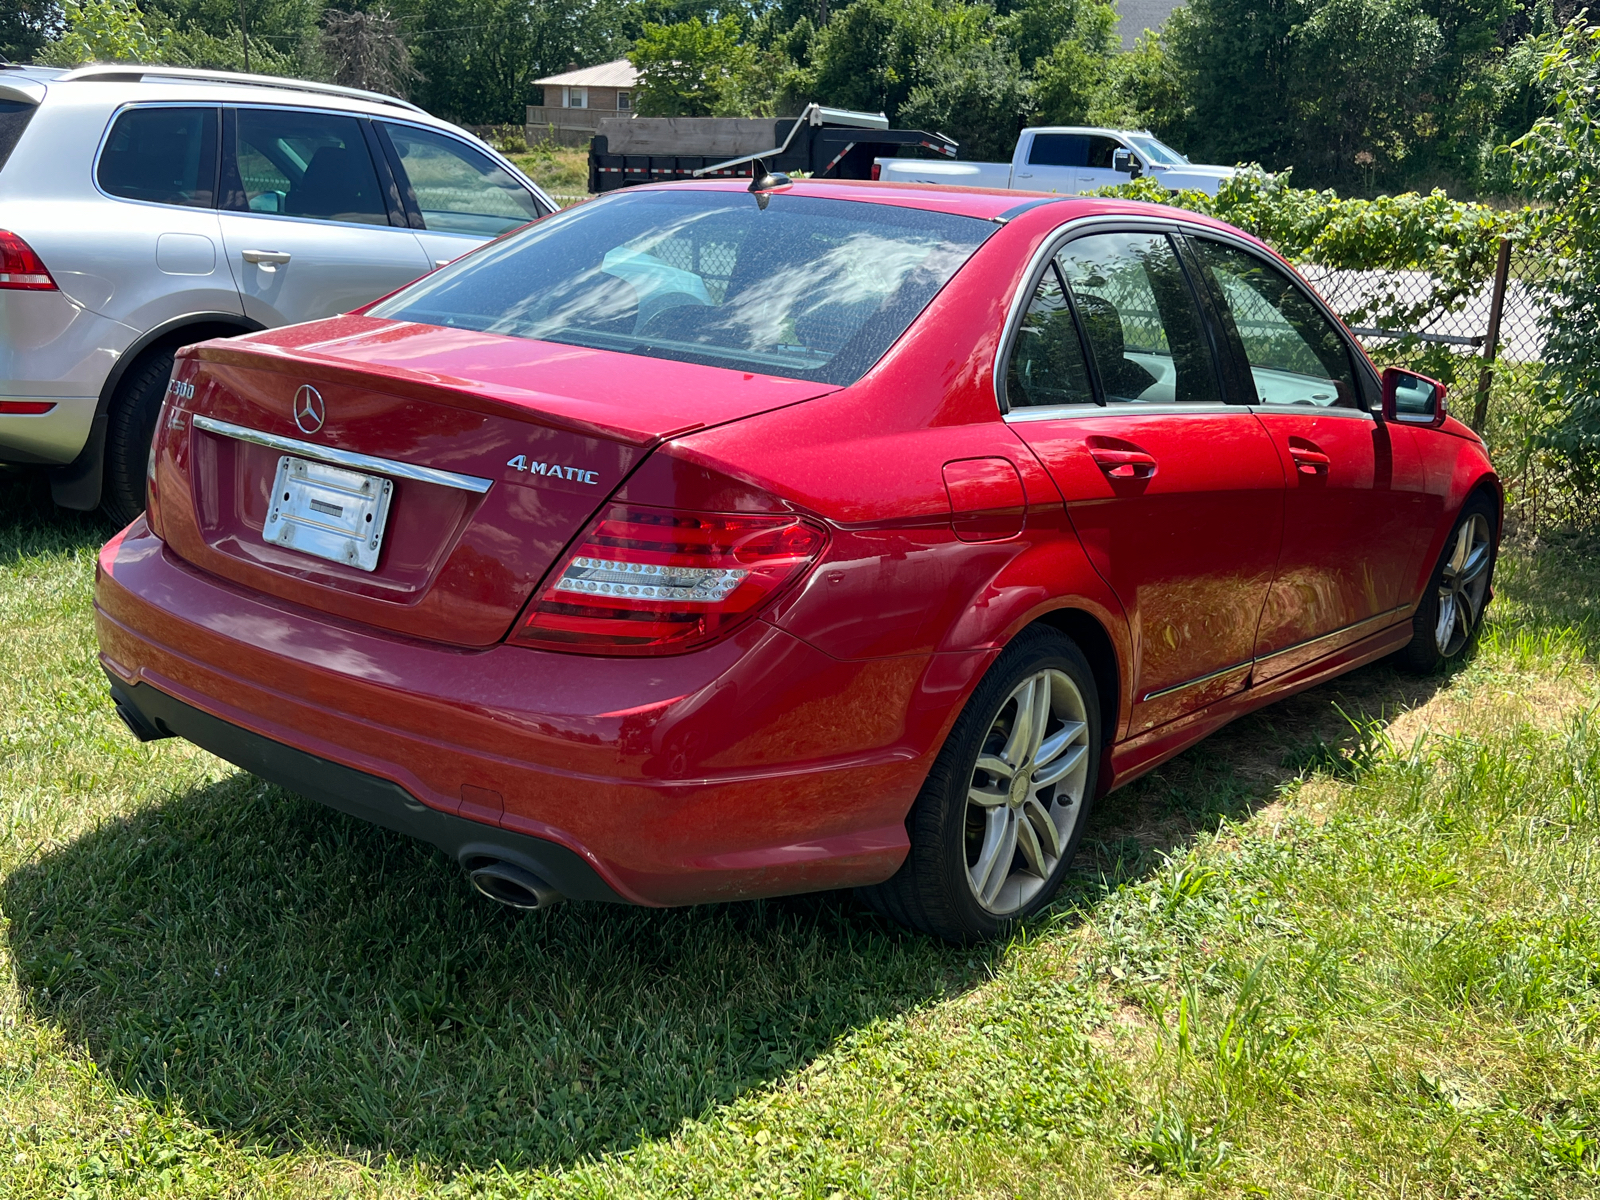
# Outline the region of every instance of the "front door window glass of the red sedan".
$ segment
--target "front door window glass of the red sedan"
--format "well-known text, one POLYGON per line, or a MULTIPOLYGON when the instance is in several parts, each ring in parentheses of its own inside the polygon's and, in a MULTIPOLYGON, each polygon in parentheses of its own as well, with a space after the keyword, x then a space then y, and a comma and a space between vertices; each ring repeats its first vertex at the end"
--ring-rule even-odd
POLYGON ((1288 275, 1254 254, 1194 238, 1226 304, 1264 405, 1355 406, 1344 338, 1288 275))

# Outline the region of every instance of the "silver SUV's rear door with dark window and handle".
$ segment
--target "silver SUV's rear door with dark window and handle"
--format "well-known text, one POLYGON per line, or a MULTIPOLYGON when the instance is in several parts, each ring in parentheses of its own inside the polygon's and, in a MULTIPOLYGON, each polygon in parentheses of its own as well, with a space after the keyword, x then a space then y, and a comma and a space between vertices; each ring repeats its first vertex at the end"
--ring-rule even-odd
POLYGON ((363 125, 309 109, 226 114, 222 240, 246 317, 331 317, 432 269, 363 125))

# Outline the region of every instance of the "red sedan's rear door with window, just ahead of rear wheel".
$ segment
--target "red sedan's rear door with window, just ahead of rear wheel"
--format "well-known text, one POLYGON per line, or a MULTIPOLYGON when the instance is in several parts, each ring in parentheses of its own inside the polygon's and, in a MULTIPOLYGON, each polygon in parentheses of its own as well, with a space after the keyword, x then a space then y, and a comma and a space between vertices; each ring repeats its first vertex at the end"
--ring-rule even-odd
POLYGON ((1278 557, 1283 470, 1250 410, 1222 403, 1166 234, 1069 242, 1013 338, 1005 395, 1128 613, 1130 731, 1243 688, 1278 557))

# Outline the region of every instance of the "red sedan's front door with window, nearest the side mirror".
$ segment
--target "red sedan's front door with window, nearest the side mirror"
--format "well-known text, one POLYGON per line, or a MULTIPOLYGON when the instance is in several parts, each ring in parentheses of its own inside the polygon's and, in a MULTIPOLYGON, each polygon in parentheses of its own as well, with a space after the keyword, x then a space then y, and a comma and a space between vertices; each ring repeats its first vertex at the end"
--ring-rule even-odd
POLYGON ((1424 528, 1422 462, 1410 430, 1366 411, 1350 347, 1304 288, 1242 246, 1192 245, 1286 478, 1261 682, 1394 622, 1424 528))

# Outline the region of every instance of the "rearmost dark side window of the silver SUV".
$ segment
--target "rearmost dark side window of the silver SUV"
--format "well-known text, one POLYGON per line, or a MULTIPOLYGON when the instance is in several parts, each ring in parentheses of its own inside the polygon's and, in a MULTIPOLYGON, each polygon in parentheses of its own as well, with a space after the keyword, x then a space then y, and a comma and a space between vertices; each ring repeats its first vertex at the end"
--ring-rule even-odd
POLYGON ((216 205, 218 110, 128 109, 101 150, 104 192, 158 205, 216 205))

